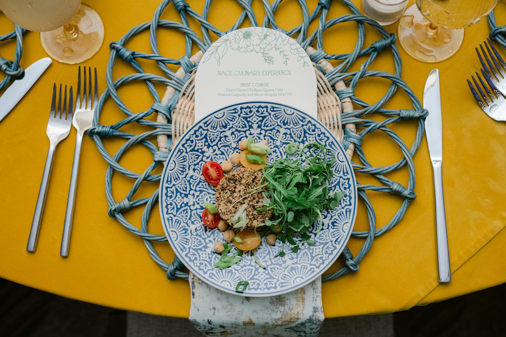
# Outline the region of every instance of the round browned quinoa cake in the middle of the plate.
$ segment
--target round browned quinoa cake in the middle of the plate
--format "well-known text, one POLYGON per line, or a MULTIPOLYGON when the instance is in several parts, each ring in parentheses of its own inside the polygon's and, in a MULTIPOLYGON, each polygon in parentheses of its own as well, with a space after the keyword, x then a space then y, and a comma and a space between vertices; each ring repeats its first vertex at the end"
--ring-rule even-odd
POLYGON ((272 210, 257 211, 259 207, 262 207, 259 204, 262 204, 265 199, 262 191, 254 194, 250 194, 250 192, 246 193, 250 189, 260 186, 263 181, 264 177, 261 172, 246 167, 238 168, 223 177, 216 188, 215 195, 216 209, 220 213, 221 218, 230 223, 230 220, 232 220, 239 208, 247 204, 248 206, 244 210, 248 219, 247 229, 255 228, 269 219, 272 215, 272 210), (250 195, 230 207, 247 194, 250 195))

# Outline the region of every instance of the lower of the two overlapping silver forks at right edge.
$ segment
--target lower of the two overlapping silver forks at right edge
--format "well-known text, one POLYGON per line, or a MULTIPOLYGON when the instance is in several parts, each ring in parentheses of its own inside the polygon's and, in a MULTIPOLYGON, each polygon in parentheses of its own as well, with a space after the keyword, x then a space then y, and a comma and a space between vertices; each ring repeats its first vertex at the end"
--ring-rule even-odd
POLYGON ((469 88, 471 89, 471 92, 473 93, 473 96, 478 102, 478 105, 480 108, 491 118, 495 119, 496 121, 506 121, 506 99, 500 94, 499 90, 495 87, 494 83, 488 78, 485 71, 481 70, 483 77, 487 81, 488 85, 490 86, 492 92, 488 89, 487 85, 483 82, 480 75, 476 73, 476 76, 481 82, 481 87, 476 81, 476 78, 474 76, 471 76, 473 78, 473 82, 476 85, 476 88, 481 94, 481 97, 483 98, 483 102, 480 98, 480 95, 478 92, 476 92, 475 88, 473 87, 473 84, 471 84, 471 81, 468 80, 469 88), (485 89, 485 91, 482 90, 485 89))

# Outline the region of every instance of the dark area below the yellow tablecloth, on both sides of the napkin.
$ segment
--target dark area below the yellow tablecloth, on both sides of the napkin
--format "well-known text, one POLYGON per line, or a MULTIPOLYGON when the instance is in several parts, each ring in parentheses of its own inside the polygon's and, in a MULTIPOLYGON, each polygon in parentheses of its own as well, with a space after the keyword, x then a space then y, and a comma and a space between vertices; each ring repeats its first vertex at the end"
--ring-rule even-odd
MULTIPOLYGON (((323 336, 505 336, 506 284, 425 307, 394 314, 325 319, 323 336)), ((163 326, 163 334, 199 333, 187 319, 132 315, 90 303, 69 300, 0 278, 0 337, 127 336, 127 316, 163 326), (175 333, 171 326, 178 327, 175 333), (171 333, 172 331, 172 333, 171 333), (186 331, 186 332, 181 332, 186 331)), ((130 323, 129 336, 132 335, 130 323)), ((137 328, 142 328, 137 326, 137 328)))

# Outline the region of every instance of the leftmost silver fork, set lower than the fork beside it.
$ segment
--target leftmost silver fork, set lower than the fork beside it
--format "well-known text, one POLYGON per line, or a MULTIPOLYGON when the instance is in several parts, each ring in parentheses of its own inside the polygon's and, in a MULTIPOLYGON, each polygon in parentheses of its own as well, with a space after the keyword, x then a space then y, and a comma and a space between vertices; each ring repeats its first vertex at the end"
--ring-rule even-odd
POLYGON ((68 101, 68 114, 67 114, 67 85, 65 85, 65 94, 63 98, 63 109, 62 104, 62 85, 60 84, 60 95, 58 100, 58 110, 56 110, 56 83, 53 86, 53 98, 51 101, 51 114, 49 116, 48 127, 46 133, 49 138, 49 151, 46 159, 46 166, 44 167, 44 173, 42 175, 42 182, 40 183, 40 189, 38 191, 37 203, 35 205, 35 212, 33 214, 33 220, 30 228, 30 235, 28 236, 28 245, 26 250, 29 252, 35 252, 37 245, 38 231, 40 228, 40 220, 42 219, 42 212, 44 210, 44 203, 46 201, 46 192, 48 190, 49 175, 51 172, 51 165, 53 163, 53 157, 55 154, 56 146, 60 141, 65 139, 72 127, 72 86, 70 86, 69 92, 70 98, 68 101))

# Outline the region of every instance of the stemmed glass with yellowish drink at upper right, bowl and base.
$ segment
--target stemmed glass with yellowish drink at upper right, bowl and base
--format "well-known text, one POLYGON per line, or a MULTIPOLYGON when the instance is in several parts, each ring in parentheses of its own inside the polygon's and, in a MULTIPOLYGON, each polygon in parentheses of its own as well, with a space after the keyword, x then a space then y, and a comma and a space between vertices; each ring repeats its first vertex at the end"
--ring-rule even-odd
POLYGON ((446 60, 457 52, 469 27, 490 13, 497 0, 415 0, 399 20, 399 42, 415 59, 446 60))

